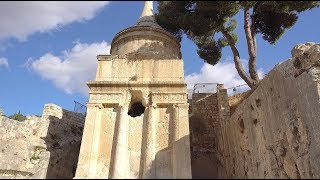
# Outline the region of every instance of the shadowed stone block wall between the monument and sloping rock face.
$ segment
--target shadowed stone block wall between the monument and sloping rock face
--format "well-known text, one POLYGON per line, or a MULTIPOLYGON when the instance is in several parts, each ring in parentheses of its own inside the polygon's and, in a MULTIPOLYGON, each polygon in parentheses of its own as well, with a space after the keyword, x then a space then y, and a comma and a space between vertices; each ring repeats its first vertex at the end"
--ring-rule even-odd
POLYGON ((223 178, 218 152, 221 122, 230 116, 228 96, 223 86, 217 93, 194 93, 190 109, 191 166, 193 178, 223 178))

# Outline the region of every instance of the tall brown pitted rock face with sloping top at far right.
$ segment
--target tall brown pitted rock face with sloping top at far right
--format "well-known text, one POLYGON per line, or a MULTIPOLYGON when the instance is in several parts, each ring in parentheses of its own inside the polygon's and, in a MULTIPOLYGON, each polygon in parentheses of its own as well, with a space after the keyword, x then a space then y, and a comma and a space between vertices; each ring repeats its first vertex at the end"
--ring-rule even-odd
POLYGON ((229 178, 320 177, 319 63, 320 44, 297 45, 225 122, 229 178))

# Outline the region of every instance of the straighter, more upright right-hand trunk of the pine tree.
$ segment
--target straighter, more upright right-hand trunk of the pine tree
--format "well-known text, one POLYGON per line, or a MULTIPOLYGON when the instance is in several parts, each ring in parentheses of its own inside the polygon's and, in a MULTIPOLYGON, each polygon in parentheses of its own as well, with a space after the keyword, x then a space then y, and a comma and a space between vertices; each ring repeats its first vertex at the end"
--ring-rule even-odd
MULTIPOLYGON (((253 27, 254 28, 254 27, 253 27)), ((252 29, 253 29, 252 28, 252 29)), ((254 33, 250 28, 250 12, 249 7, 244 8, 244 31, 246 34, 248 53, 249 53, 249 74, 253 83, 256 84, 259 81, 257 73, 257 53, 256 53, 256 39, 254 33)))

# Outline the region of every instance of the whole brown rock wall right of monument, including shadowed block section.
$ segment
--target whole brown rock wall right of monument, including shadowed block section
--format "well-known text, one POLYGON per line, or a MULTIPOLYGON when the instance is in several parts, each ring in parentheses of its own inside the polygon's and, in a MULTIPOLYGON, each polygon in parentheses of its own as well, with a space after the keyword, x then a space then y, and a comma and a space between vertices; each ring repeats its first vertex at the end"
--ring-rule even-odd
POLYGON ((256 89, 229 97, 228 116, 219 93, 206 96, 190 117, 193 177, 320 178, 320 44, 295 46, 256 89))

